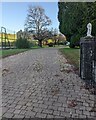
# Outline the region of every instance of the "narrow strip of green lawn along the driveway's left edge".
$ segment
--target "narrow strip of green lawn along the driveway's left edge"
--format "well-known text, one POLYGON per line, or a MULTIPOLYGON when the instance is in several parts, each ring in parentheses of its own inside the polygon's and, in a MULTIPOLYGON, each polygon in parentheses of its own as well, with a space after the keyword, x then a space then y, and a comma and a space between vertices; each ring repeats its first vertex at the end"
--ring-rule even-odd
POLYGON ((0 58, 8 57, 14 54, 25 52, 28 49, 9 49, 9 50, 0 50, 0 58))

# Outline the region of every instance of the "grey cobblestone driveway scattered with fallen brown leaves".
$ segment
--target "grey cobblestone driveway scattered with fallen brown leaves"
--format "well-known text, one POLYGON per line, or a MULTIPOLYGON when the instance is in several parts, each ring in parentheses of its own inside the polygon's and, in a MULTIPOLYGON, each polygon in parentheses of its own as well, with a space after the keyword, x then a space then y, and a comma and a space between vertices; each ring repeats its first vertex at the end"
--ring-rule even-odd
POLYGON ((57 48, 30 50, 2 60, 2 117, 95 118, 94 95, 57 48))

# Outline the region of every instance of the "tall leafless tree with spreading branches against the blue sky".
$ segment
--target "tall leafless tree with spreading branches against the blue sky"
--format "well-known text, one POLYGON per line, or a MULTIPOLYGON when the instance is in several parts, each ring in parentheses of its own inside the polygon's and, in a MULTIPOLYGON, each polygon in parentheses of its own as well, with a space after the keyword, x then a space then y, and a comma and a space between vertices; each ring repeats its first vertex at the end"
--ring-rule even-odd
POLYGON ((41 47, 43 35, 50 24, 51 20, 45 15, 45 10, 42 7, 29 6, 25 28, 34 34, 34 38, 38 40, 41 47))

